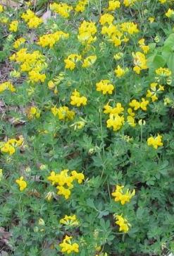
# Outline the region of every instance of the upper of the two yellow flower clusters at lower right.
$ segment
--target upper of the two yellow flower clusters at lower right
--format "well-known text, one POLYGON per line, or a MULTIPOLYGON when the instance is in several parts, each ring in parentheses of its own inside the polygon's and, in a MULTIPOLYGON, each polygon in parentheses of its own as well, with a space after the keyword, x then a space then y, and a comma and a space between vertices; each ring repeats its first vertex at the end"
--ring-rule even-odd
POLYGON ((127 190, 124 194, 123 187, 124 186, 116 185, 116 190, 112 193, 112 196, 115 197, 115 202, 120 201, 121 204, 130 202, 130 199, 135 195, 135 190, 133 190, 132 193, 130 190, 127 190))

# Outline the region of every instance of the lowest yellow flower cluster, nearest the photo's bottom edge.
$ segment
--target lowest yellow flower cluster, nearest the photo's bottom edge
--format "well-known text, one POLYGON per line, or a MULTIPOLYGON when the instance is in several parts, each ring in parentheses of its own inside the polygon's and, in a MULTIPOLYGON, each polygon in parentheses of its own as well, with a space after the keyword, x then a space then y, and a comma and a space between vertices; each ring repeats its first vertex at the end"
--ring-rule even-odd
POLYGON ((59 244, 61 247, 61 252, 67 252, 70 254, 71 252, 79 252, 79 245, 77 243, 71 243, 72 236, 66 235, 66 238, 63 239, 63 242, 59 244))

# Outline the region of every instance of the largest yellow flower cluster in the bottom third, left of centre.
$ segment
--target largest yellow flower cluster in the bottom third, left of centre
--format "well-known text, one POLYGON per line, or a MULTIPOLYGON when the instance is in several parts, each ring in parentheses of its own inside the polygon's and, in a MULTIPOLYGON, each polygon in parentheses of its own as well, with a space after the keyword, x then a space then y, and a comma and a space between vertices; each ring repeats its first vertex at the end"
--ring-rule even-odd
POLYGON ((51 172, 48 180, 51 181, 52 185, 56 185, 58 190, 57 194, 62 194, 66 199, 70 197, 70 190, 73 189, 73 181, 77 180, 80 184, 85 179, 82 173, 77 173, 76 170, 71 171, 68 175, 69 170, 61 170, 61 173, 51 172))

